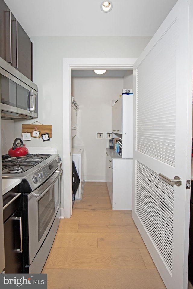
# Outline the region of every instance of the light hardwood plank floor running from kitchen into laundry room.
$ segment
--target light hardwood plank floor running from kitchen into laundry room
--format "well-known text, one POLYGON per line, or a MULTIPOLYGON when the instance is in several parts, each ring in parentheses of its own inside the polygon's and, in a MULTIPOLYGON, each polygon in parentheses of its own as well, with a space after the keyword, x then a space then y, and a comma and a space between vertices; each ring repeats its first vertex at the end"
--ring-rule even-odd
POLYGON ((166 289, 131 211, 112 210, 106 182, 85 183, 42 273, 48 289, 166 289))

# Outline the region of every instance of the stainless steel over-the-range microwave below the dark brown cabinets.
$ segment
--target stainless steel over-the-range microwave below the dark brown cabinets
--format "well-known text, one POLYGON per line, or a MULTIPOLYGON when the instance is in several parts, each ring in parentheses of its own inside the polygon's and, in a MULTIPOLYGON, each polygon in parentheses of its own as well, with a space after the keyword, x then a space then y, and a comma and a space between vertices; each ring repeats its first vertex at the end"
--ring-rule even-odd
POLYGON ((2 119, 38 117, 37 85, 0 58, 2 119))

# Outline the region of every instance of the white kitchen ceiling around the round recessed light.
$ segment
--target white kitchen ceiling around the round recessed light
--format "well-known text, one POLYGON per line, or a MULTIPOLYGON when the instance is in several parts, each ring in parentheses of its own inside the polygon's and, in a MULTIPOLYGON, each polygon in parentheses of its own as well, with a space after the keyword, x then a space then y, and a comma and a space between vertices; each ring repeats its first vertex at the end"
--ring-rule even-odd
POLYGON ((153 36, 177 0, 4 0, 30 37, 153 36))

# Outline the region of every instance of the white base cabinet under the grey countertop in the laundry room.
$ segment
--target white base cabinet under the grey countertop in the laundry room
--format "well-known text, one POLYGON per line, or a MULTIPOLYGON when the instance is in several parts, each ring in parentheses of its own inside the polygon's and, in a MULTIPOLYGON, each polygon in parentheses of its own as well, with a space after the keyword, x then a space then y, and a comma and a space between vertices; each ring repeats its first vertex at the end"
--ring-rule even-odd
POLYGON ((132 209, 132 159, 106 149, 106 183, 113 210, 132 209))

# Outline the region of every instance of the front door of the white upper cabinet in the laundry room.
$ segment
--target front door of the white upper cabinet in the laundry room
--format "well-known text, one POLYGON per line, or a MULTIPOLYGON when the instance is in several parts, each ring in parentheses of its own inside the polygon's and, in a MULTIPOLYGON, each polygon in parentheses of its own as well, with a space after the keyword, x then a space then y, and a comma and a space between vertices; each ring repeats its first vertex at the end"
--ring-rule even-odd
POLYGON ((122 97, 112 107, 112 132, 122 133, 122 97))

